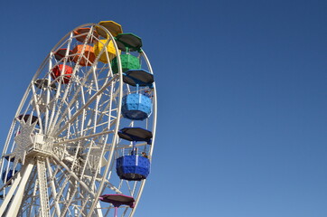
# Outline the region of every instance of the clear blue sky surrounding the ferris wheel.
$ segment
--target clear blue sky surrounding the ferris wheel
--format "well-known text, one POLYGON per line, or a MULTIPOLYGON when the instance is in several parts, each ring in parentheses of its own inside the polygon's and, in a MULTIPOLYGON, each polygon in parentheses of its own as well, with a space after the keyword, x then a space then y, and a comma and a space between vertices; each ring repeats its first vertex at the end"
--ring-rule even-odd
POLYGON ((0 143, 61 37, 114 20, 142 37, 158 91, 135 217, 325 217, 326 11, 324 0, 1 1, 0 143))

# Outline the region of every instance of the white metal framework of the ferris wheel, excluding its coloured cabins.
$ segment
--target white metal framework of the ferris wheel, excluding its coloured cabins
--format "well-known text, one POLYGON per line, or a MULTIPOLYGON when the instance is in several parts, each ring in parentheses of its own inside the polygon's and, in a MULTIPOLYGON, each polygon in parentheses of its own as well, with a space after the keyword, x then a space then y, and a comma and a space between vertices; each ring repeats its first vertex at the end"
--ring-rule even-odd
MULTIPOLYGON (((133 196, 135 207, 140 201, 145 180, 127 182, 116 175, 115 160, 130 152, 132 146, 120 139, 117 132, 134 126, 147 128, 155 135, 155 85, 151 90, 144 88, 152 93, 151 117, 145 121, 122 118, 122 98, 135 90, 123 82, 119 57, 117 74, 111 70, 109 60, 98 61, 107 52, 110 41, 118 53, 117 44, 111 33, 98 24, 76 29, 79 28, 89 28, 88 33, 79 34, 86 37, 84 42, 79 42, 71 31, 57 43, 36 71, 16 111, 0 158, 0 175, 7 176, 10 170, 14 174, 0 184, 4 197, 0 201, 0 216, 112 216, 113 206, 100 202, 101 194, 133 196), (98 41, 96 27, 109 35, 104 49, 91 65, 81 66, 87 47, 92 45, 89 39, 98 41), (82 51, 72 54, 70 50, 77 45, 82 45, 82 51), (67 50, 57 60, 55 53, 61 48, 67 50), (60 64, 63 69, 72 68, 69 82, 65 83, 64 70, 58 78, 51 75, 52 69, 60 64), (40 80, 41 85, 37 83, 40 80)), ((153 73, 145 52, 138 58, 145 62, 142 68, 153 73)), ((152 160, 154 137, 152 146, 146 143, 136 146, 152 160)), ((131 217, 135 208, 122 205, 118 213, 131 217)))

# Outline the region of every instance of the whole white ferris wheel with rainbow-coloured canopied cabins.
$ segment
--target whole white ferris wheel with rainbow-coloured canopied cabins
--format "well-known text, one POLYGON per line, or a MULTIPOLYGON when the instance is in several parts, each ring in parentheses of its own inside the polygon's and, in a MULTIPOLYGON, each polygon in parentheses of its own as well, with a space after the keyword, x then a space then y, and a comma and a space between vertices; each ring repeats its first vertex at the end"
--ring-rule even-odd
POLYGON ((113 21, 64 36, 33 76, 0 158, 0 216, 133 216, 150 173, 154 74, 113 21))

